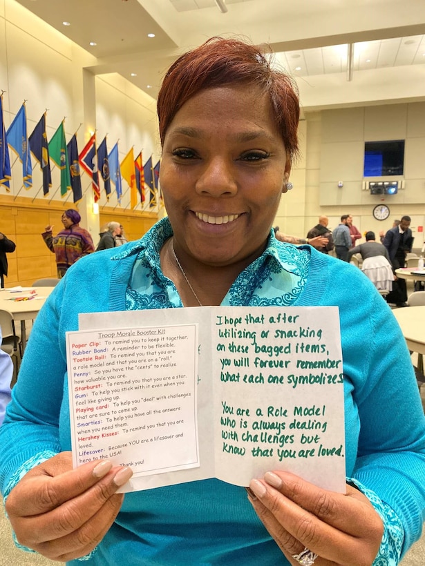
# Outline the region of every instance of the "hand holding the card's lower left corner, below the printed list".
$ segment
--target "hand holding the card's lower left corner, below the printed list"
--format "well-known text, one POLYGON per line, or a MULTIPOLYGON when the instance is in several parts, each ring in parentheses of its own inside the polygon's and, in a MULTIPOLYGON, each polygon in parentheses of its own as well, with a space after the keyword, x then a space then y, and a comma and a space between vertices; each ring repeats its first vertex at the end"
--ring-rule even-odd
POLYGON ((62 452, 28 471, 10 491, 6 511, 21 545, 66 562, 88 554, 111 527, 133 472, 108 460, 73 469, 62 452))

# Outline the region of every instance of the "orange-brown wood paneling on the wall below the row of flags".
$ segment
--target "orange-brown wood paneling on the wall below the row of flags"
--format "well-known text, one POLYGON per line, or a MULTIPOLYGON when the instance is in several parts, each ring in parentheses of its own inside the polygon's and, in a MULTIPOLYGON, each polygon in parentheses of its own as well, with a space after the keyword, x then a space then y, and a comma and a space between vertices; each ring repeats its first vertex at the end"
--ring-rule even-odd
MULTIPOLYGON (((72 208, 72 206, 70 206, 72 208)), ((5 286, 30 286, 42 277, 57 277, 55 254, 44 243, 41 233, 52 224, 53 233, 62 228, 64 206, 55 201, 49 205, 42 199, 0 195, 0 232, 16 244, 8 253, 8 277, 5 286)), ((100 211, 100 226, 115 220, 124 226, 128 240, 138 240, 158 219, 157 213, 100 211)), ((84 226, 83 226, 84 228, 84 226)), ((95 245, 98 238, 93 238, 95 245)))

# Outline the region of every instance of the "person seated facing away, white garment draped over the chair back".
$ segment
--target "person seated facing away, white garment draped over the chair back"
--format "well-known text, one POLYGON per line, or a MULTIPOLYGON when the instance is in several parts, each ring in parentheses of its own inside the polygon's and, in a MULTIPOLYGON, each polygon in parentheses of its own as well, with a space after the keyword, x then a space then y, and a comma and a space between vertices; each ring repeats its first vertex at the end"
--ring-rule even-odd
POLYGON ((393 290, 393 270, 386 247, 375 240, 375 232, 366 232, 366 242, 348 251, 348 261, 355 253, 363 259, 361 271, 372 281, 378 291, 393 290))

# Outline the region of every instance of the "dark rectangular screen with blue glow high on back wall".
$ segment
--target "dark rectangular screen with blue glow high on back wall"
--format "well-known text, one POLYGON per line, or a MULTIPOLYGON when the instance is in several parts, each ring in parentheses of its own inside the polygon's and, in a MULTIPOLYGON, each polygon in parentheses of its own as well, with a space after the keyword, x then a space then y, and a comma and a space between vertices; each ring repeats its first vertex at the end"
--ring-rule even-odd
POLYGON ((364 177, 386 177, 404 173, 404 139, 365 142, 364 177))

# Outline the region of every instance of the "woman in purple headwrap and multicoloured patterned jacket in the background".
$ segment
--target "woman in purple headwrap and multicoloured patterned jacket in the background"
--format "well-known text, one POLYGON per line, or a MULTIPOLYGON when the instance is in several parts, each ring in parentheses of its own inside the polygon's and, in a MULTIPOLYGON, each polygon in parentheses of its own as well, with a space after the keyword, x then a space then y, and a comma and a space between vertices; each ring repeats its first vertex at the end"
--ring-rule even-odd
POLYGON ((41 234, 46 246, 56 255, 57 277, 64 277, 68 268, 83 255, 95 251, 93 240, 88 231, 80 228, 81 216, 73 208, 68 208, 62 215, 64 230, 53 237, 53 226, 46 226, 41 234))

